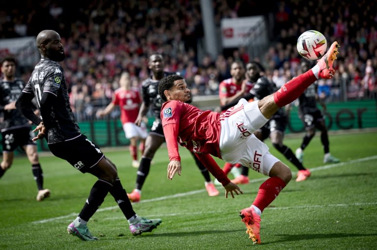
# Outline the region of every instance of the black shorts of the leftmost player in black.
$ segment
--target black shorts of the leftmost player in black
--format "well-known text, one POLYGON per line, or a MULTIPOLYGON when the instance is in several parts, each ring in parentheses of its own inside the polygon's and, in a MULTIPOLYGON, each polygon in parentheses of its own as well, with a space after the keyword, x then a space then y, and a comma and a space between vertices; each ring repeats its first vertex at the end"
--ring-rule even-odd
POLYGON ((36 145, 32 138, 34 133, 30 127, 22 127, 17 129, 10 129, 1 132, 2 136, 2 151, 13 152, 17 147, 23 149, 26 145, 36 145))

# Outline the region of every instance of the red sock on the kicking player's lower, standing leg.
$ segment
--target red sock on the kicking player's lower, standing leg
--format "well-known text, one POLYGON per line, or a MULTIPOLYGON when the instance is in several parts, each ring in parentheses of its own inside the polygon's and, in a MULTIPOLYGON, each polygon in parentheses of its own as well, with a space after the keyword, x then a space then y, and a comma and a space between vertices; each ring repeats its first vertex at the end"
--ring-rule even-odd
POLYGON ((285 186, 285 182, 279 177, 270 177, 259 187, 258 194, 253 202, 253 205, 257 206, 263 212, 263 210, 271 202, 273 202, 273 200, 275 200, 275 198, 285 186))

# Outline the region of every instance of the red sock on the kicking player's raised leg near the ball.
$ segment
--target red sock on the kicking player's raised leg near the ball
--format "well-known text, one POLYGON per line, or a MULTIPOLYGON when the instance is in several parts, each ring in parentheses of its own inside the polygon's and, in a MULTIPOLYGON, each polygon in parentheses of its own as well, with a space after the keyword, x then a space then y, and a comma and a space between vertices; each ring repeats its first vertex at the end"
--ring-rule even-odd
POLYGON ((317 81, 312 69, 298 75, 291 81, 285 83, 273 94, 273 99, 279 107, 283 107, 296 100, 311 84, 317 81))

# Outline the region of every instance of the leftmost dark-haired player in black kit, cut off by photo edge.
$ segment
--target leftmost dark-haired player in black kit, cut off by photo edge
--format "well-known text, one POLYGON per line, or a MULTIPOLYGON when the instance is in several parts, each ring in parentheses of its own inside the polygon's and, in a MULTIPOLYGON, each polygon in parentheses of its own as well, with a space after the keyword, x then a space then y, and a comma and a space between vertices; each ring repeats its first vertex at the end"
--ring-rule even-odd
POLYGON ((0 62, 3 74, 0 80, 0 113, 3 122, 0 124, 2 136, 2 161, 0 163, 0 178, 12 166, 14 150, 22 148, 31 163, 31 171, 37 183, 37 201, 50 196, 50 190, 43 188, 43 171, 39 163, 37 146, 32 141, 33 133, 29 120, 16 109, 15 103, 25 87, 25 82, 15 78, 16 60, 6 57, 0 62))

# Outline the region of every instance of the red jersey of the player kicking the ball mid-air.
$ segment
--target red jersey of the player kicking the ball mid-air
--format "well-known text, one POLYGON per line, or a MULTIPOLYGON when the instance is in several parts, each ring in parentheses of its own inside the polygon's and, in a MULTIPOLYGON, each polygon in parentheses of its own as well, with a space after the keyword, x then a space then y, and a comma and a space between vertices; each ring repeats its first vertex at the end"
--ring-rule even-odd
POLYGON ((181 101, 165 102, 161 108, 161 120, 169 158, 179 157, 178 148, 174 149, 177 140, 194 153, 208 153, 221 158, 219 115, 210 110, 202 111, 181 101), (174 125, 175 128, 166 129, 167 124, 174 125), (177 135, 174 135, 174 131, 177 131, 177 135))

